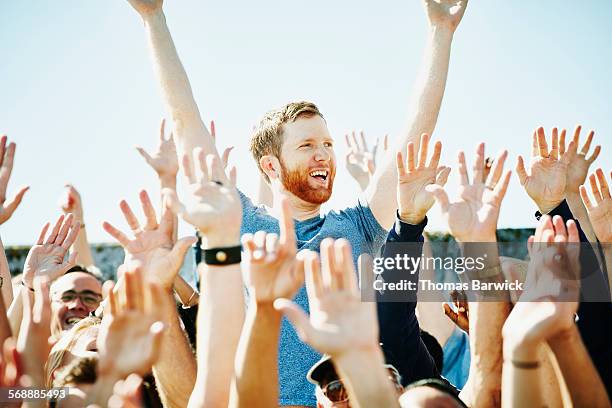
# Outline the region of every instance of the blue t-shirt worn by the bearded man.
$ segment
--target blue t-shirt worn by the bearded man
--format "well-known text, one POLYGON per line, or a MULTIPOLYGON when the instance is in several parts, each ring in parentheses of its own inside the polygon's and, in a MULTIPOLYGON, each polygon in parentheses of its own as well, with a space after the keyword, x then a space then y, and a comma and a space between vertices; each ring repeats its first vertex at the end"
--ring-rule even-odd
MULTIPOLYGON (((240 192, 242 201, 241 234, 266 231, 279 233, 278 220, 268 214, 265 207, 256 207, 240 192)), ((367 205, 357 202, 355 207, 343 211, 330 211, 326 215, 295 221, 298 251, 310 249, 319 252, 325 238, 345 238, 351 243, 353 262, 362 253, 375 254, 385 242, 385 231, 367 205)), ((302 287, 294 301, 308 311, 306 289, 302 287)), ((316 406, 314 386, 306 380, 310 367, 321 355, 302 343, 291 323, 283 318, 279 342, 279 405, 316 406)), ((266 379, 262 378, 262 381, 266 379)))

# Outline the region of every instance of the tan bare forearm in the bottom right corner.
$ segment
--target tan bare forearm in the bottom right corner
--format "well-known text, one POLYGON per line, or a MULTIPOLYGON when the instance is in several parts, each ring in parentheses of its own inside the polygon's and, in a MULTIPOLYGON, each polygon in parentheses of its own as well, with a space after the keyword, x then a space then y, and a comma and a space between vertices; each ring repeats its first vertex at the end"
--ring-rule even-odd
POLYGON ((577 327, 548 341, 577 407, 609 407, 606 388, 593 365, 577 327))

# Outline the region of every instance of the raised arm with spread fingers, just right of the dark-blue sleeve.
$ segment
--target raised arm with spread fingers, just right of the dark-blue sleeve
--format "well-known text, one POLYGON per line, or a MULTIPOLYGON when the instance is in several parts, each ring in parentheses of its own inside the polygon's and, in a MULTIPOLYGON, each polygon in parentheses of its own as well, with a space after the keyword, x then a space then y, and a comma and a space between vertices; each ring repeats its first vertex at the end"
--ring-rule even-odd
MULTIPOLYGON (((439 202, 449 231, 462 248, 462 256, 474 259, 483 257, 485 260, 484 269, 468 272, 468 277, 484 282, 499 282, 503 281, 503 275, 495 231, 511 173, 508 171, 502 177, 507 157, 507 152, 503 152, 485 181, 484 153, 484 143, 481 143, 476 151, 471 183, 465 154, 459 153, 460 197, 456 201, 450 202, 442 187, 433 185, 428 186, 427 190, 433 192, 439 202)), ((498 406, 501 398, 501 328, 510 311, 510 304, 503 296, 487 299, 476 292, 475 298, 470 299, 469 310, 472 358, 461 399, 474 407, 498 406)))

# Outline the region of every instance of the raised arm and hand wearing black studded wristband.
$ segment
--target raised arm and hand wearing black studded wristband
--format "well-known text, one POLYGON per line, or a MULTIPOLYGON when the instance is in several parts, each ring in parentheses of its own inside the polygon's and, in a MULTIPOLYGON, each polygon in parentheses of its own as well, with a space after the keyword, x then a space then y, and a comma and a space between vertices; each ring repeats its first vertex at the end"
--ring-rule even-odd
POLYGON ((244 322, 240 260, 232 256, 240 248, 242 207, 235 170, 228 179, 218 157, 209 155, 206 160, 201 149, 194 156, 193 160, 183 157, 189 192, 184 202, 176 191, 164 190, 172 211, 202 234, 205 251, 204 262, 198 265, 200 285, 206 291, 198 307, 198 372, 189 406, 226 407, 244 322))

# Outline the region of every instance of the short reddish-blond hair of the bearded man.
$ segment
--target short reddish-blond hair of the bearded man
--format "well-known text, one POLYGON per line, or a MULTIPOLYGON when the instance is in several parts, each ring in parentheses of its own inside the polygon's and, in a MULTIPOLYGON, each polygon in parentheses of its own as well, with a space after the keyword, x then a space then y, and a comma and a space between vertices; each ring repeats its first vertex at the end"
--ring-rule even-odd
POLYGON ((282 108, 271 110, 259 121, 259 125, 255 128, 251 137, 250 150, 266 181, 270 182, 270 178, 261 168, 259 159, 263 156, 275 156, 280 160, 283 146, 283 125, 295 122, 296 119, 301 117, 310 118, 316 115, 323 118, 319 108, 314 103, 299 101, 290 102, 282 108))

